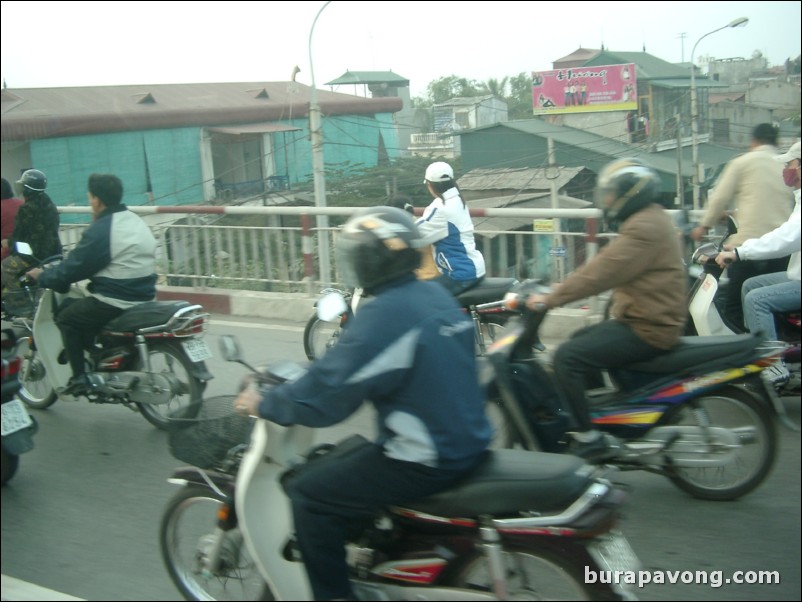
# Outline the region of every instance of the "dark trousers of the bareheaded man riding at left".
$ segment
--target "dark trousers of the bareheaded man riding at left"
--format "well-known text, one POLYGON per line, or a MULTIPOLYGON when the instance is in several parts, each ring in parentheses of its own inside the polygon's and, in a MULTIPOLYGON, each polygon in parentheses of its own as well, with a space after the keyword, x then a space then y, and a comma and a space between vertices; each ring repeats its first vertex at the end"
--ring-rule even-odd
POLYGON ((61 331, 73 376, 86 372, 84 350, 91 349, 95 337, 106 323, 123 311, 94 297, 68 297, 64 300, 56 312, 56 325, 61 331))

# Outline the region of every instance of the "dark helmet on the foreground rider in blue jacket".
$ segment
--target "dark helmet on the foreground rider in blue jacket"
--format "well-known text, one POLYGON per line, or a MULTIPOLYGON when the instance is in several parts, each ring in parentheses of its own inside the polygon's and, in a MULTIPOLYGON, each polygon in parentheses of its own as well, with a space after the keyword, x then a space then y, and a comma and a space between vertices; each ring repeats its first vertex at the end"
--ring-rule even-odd
POLYGON ((420 265, 420 238, 403 209, 367 207, 351 216, 337 237, 337 268, 348 286, 373 289, 420 265))

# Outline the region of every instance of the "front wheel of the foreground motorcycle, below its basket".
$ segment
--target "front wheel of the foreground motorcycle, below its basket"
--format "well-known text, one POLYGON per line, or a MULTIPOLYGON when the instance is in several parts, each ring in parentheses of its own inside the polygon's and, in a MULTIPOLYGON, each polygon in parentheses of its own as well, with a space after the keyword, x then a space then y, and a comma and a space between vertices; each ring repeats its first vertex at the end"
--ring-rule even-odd
POLYGON ((218 528, 218 512, 227 504, 232 502, 198 485, 173 496, 159 529, 167 572, 187 600, 275 600, 240 530, 218 528), (211 567, 218 546, 219 559, 211 567))

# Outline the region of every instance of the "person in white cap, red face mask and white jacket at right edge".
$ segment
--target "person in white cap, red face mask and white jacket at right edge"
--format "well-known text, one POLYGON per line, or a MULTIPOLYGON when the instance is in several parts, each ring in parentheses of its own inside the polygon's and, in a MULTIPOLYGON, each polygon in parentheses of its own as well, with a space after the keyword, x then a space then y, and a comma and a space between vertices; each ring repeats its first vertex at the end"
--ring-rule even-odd
MULTIPOLYGON (((800 299, 800 153, 802 144, 796 142, 777 159, 785 164, 783 181, 794 190, 794 210, 784 224, 760 238, 750 238, 741 244, 725 245, 726 251, 718 254, 716 263, 722 268, 734 261, 771 259, 785 257, 791 253, 786 271, 753 276, 744 282, 741 289, 744 319, 750 332, 761 332, 769 340, 777 338, 774 313, 799 310, 800 299)), ((780 359, 764 371, 775 386, 788 381, 790 374, 785 362, 780 359)))

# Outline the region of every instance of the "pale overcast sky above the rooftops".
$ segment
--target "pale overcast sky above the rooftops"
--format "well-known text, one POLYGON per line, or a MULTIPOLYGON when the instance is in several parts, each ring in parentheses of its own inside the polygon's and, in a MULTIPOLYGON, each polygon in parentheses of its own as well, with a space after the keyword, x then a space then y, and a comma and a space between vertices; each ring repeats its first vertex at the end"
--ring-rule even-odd
MULTIPOLYGON (((325 2, 2 2, 1 75, 9 88, 149 83, 312 83, 309 36, 325 2)), ((351 71, 410 80, 412 96, 447 75, 486 81, 551 69, 579 47, 770 64, 800 54, 800 2, 346 2, 322 10, 315 83, 351 71), (684 37, 683 37, 684 36, 684 37)), ((349 87, 337 91, 353 93, 349 87)))

